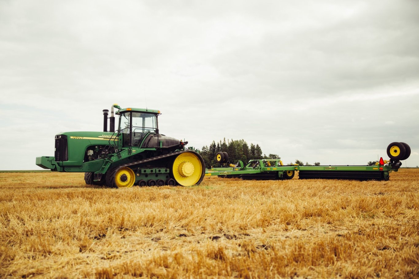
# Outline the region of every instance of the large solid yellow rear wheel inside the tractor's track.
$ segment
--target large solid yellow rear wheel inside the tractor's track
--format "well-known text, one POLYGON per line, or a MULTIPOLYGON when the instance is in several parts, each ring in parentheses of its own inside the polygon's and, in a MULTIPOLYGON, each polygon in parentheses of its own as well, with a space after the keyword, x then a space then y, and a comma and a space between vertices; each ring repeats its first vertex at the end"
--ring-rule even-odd
POLYGON ((197 184, 201 179, 202 170, 201 160, 192 152, 179 154, 173 162, 173 178, 182 186, 197 184))

